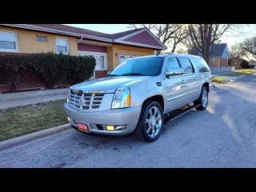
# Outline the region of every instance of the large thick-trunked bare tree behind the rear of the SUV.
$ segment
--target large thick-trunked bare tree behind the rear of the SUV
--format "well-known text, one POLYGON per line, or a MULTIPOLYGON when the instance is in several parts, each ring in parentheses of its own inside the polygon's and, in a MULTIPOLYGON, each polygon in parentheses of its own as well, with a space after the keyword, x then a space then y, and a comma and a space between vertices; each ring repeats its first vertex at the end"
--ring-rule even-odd
POLYGON ((229 28, 229 24, 191 24, 188 26, 194 48, 202 53, 202 58, 207 63, 210 60, 210 45, 221 38, 229 28))

